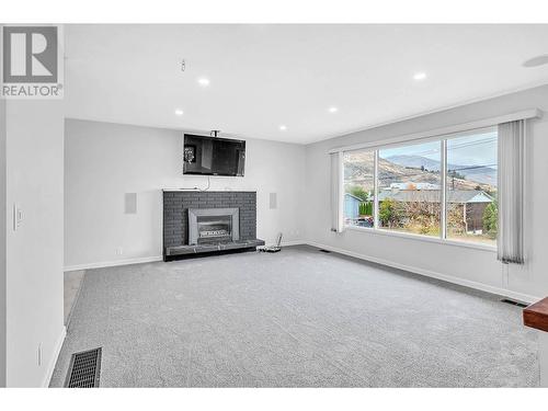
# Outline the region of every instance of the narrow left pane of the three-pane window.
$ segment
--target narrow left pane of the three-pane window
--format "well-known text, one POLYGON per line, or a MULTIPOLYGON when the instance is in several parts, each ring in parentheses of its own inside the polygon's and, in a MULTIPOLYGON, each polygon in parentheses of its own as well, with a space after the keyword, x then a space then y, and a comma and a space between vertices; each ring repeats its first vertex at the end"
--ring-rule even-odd
POLYGON ((346 226, 373 228, 375 193, 375 151, 349 151, 343 157, 346 226))

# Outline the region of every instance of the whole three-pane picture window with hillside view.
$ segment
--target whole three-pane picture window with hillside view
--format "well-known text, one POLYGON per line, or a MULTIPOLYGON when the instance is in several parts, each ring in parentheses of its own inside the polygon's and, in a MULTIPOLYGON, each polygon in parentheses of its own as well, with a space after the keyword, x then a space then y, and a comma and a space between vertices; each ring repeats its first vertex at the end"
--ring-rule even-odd
POLYGON ((489 127, 344 152, 344 224, 495 246, 496 147, 489 127))

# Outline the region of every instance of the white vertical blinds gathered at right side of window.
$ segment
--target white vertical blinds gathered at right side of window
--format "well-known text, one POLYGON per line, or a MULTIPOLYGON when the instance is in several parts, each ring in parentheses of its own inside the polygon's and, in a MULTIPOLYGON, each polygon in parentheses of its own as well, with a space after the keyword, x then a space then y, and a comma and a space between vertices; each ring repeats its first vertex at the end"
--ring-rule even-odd
POLYGON ((524 263, 525 121, 499 124, 498 259, 524 263))

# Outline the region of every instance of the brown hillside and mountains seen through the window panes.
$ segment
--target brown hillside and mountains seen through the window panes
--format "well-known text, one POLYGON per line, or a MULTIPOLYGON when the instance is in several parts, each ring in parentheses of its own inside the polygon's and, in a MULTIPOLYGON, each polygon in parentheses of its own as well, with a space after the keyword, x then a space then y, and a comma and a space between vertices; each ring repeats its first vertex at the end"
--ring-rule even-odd
MULTIPOLYGON (((347 153, 345 159, 344 180, 347 183, 361 185, 367 191, 373 190, 374 170, 370 155, 347 153)), ((441 184, 438 170, 421 170, 420 165, 418 168, 404 167, 386 159, 379 159, 379 180, 383 186, 409 182, 441 184)), ((476 179, 473 173, 469 173, 465 179, 449 179, 448 184, 455 190, 475 190, 477 186, 487 192, 496 190, 494 185, 480 180, 482 179, 476 179)))

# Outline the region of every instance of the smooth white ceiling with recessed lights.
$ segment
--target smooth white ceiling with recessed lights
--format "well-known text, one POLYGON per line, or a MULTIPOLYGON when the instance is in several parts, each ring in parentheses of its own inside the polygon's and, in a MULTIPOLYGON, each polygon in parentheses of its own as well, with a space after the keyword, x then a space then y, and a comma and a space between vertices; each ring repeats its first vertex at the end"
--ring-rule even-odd
POLYGON ((68 25, 65 32, 68 117, 248 138, 306 144, 548 83, 548 65, 522 66, 548 53, 548 25, 68 25), (420 71, 426 79, 413 80, 420 71), (210 84, 199 85, 201 77, 210 84))

